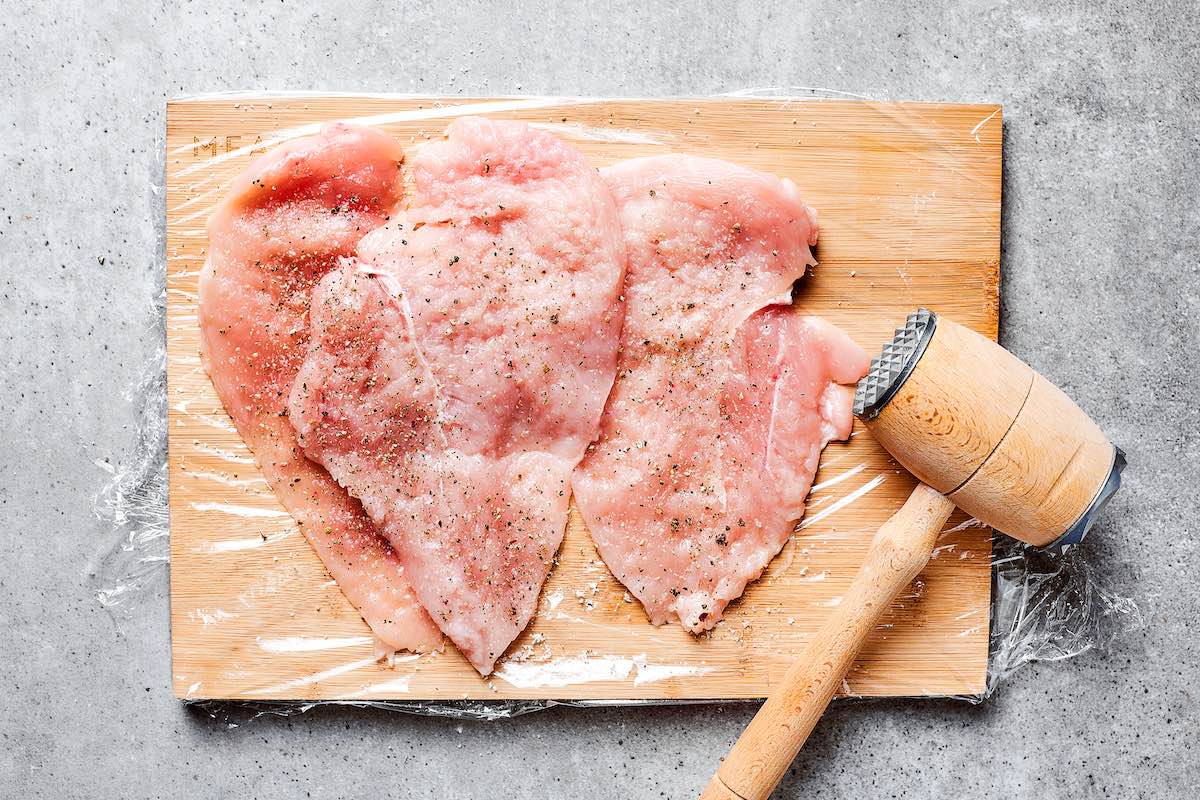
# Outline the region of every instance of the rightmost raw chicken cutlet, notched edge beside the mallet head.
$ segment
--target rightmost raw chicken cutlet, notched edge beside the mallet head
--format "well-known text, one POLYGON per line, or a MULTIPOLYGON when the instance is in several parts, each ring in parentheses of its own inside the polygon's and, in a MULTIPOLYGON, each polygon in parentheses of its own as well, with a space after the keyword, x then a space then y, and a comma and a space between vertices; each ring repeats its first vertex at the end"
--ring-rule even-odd
POLYGON ((815 263, 816 218, 791 181, 690 156, 604 175, 629 252, 625 325, 575 499, 650 620, 700 632, 792 534, 868 359, 772 305, 815 263))

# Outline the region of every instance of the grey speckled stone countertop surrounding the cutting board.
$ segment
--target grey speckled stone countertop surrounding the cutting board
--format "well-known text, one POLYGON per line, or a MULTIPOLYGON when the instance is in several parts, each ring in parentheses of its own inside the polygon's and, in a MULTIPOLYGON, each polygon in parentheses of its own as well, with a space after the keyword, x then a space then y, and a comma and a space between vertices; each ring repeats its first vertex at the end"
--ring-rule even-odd
POLYGON ((1195 5, 5 5, 0 796, 692 796, 751 706, 496 723, 334 709, 236 728, 188 710, 168 691, 162 571, 132 610, 95 600, 92 497, 131 457, 125 392, 158 344, 168 97, 764 86, 1004 104, 1003 341, 1129 453, 1087 548, 1150 609, 1108 652, 1027 667, 982 705, 836 705, 778 796, 1195 796, 1195 5))

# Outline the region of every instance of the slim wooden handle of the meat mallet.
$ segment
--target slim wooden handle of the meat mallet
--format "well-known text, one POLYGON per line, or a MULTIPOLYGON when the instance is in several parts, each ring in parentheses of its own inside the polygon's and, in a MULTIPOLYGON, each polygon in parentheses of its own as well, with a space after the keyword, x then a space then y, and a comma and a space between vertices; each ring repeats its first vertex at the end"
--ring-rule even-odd
POLYGON ((701 800, 766 800, 804 746, 863 643, 929 563, 954 504, 919 485, 875 534, 845 599, 725 758, 701 800))

